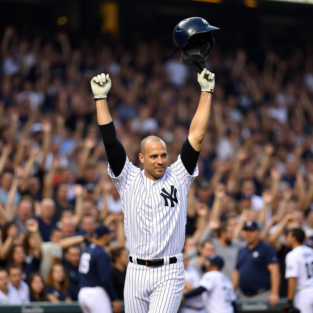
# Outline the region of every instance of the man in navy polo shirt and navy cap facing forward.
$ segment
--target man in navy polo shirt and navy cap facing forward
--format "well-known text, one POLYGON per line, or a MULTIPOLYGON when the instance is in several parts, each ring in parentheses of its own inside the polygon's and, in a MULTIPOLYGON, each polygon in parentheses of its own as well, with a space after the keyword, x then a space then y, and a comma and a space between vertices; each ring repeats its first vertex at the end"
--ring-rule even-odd
POLYGON ((280 273, 276 252, 259 239, 258 224, 247 221, 244 225, 248 246, 239 250, 232 282, 238 285, 243 300, 269 300, 271 306, 279 302, 280 273))

